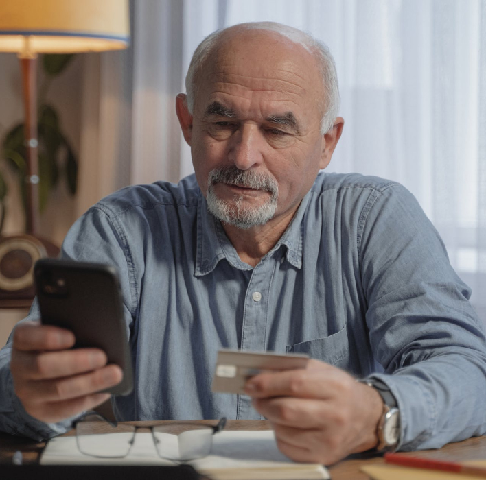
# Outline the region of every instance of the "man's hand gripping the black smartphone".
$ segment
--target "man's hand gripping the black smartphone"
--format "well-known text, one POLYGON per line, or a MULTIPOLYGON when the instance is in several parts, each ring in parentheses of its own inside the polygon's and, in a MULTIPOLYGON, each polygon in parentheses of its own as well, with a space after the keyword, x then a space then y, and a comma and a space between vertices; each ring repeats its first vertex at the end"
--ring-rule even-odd
POLYGON ((91 409, 110 397, 95 392, 122 381, 122 369, 106 365, 102 350, 68 350, 74 343, 73 333, 62 328, 34 323, 15 328, 10 370, 15 393, 34 418, 59 422, 91 409))

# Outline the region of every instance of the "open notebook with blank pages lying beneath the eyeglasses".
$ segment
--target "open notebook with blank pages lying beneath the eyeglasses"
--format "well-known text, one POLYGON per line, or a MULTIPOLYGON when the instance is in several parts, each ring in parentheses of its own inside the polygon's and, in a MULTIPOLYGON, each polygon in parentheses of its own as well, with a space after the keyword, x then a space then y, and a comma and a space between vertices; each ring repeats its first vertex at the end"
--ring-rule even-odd
MULTIPOLYGON (((93 435, 93 442, 97 442, 98 438, 93 435)), ((112 442, 126 442, 124 433, 102 435, 102 438, 100 449, 109 448, 109 445, 113 445, 112 442)), ((280 453, 272 430, 216 433, 213 437, 211 455, 187 463, 214 480, 330 478, 329 472, 322 465, 299 464, 280 453)), ((78 451, 76 437, 53 438, 45 447, 40 464, 170 465, 171 463, 157 455, 150 433, 139 432, 135 435, 135 443, 128 457, 122 459, 89 457, 78 451)))

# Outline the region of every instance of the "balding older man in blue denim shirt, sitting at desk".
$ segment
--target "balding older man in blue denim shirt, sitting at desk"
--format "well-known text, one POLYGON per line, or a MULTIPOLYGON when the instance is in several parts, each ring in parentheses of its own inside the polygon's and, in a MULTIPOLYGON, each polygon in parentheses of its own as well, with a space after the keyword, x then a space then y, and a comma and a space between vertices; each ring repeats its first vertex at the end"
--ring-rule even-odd
MULTIPOLYGON (((118 418, 265 417, 283 453, 325 464, 485 433, 485 329, 437 232, 399 184, 319 173, 343 129, 327 49, 236 25, 196 49, 186 87, 176 110, 195 176, 107 197, 63 245, 120 272, 136 381, 113 400, 118 418), (314 360, 213 394, 221 347, 314 360)), ((3 430, 49 437, 106 399, 94 392, 121 372, 73 342, 16 328, 3 430)))

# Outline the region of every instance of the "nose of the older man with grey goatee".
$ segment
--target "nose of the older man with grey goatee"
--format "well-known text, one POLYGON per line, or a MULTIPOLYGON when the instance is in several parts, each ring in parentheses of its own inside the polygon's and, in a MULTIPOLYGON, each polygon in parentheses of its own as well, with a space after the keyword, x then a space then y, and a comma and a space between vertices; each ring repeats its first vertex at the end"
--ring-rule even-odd
POLYGON ((263 162, 264 142, 257 125, 244 123, 231 137, 229 160, 240 170, 248 170, 263 162))

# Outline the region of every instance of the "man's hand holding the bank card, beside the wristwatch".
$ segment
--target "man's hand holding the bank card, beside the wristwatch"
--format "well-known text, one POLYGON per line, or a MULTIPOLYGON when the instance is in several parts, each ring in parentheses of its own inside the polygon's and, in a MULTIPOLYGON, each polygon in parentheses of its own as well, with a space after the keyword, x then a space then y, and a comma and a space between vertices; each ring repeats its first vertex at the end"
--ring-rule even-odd
POLYGON ((382 398, 327 363, 310 360, 302 370, 256 375, 246 393, 292 460, 329 465, 378 444, 382 398))

